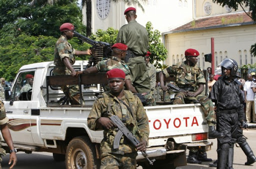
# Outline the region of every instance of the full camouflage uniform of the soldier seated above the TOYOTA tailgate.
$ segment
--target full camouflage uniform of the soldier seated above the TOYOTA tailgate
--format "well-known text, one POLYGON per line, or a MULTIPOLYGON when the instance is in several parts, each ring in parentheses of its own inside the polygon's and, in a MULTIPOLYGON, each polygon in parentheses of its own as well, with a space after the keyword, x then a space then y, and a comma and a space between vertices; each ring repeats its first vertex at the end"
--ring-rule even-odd
MULTIPOLYGON (((199 84, 205 84, 203 72, 197 66, 188 66, 184 62, 179 62, 177 65, 169 66, 163 69, 163 74, 167 78, 170 75, 175 75, 176 85, 184 90, 195 92, 198 89, 199 84)), ((175 100, 173 104, 184 104, 184 94, 178 92, 175 94, 175 100)), ((212 101, 205 95, 197 95, 196 100, 202 105, 205 119, 209 126, 215 126, 216 116, 212 101)))

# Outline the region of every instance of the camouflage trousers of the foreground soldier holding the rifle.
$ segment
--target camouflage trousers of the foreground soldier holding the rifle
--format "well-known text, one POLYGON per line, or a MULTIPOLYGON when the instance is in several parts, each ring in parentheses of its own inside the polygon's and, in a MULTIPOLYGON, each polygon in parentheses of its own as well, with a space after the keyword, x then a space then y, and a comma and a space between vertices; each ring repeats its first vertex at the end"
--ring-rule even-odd
POLYGON ((136 169, 136 156, 137 152, 124 155, 102 153, 100 169, 136 169))

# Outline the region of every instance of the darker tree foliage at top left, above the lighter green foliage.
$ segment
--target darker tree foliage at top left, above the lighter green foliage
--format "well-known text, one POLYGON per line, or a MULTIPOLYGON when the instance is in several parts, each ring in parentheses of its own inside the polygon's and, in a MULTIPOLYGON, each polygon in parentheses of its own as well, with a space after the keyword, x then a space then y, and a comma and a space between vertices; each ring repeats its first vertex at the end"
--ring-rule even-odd
POLYGON ((25 33, 38 36, 59 36, 59 26, 71 22, 79 32, 85 32, 77 0, 0 0, 0 38, 25 33))

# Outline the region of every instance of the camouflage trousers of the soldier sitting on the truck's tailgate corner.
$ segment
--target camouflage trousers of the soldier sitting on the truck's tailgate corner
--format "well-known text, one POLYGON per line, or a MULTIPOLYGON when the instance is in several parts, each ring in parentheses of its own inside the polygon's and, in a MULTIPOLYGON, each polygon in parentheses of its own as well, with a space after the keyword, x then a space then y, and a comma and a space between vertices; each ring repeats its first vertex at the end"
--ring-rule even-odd
MULTIPOLYGON (((188 104, 195 103, 195 101, 198 101, 202 106, 202 110, 208 125, 216 125, 216 114, 214 112, 213 103, 205 95, 197 95, 196 97, 185 97, 185 95, 181 92, 168 91, 165 93, 165 101, 170 101, 172 96, 174 97, 173 104, 188 104)), ((161 98, 163 98, 162 90, 160 90, 160 95, 161 98)))

